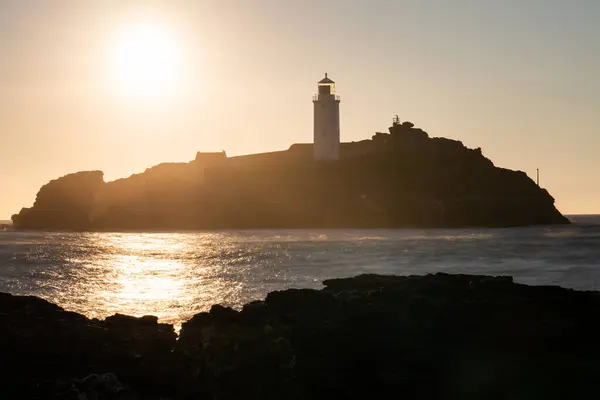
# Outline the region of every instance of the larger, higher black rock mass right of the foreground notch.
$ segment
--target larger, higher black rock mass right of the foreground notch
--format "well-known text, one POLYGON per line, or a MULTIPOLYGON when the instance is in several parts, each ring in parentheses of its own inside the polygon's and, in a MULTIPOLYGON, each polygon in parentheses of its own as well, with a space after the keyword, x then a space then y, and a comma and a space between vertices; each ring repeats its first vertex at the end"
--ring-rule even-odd
POLYGON ((595 387, 596 292, 447 274, 325 285, 270 293, 237 318, 193 318, 178 348, 212 361, 204 376, 220 398, 243 387, 245 398, 545 399, 595 387))

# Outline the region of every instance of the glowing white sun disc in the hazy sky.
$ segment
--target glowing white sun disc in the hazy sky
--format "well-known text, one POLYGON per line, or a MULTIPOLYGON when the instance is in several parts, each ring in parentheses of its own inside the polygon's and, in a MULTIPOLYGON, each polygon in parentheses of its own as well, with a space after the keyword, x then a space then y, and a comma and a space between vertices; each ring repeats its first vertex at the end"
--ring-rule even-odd
POLYGON ((177 41, 161 27, 126 29, 115 39, 111 58, 114 84, 128 95, 164 95, 179 84, 181 54, 177 41))

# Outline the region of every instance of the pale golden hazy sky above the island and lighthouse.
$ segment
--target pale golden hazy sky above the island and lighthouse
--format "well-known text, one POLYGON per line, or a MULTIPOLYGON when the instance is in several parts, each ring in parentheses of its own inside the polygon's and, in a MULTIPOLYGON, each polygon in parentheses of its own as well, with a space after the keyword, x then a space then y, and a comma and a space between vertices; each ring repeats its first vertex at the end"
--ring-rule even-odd
POLYGON ((0 0, 0 219, 70 172, 310 142, 325 72, 342 141, 398 114, 600 213, 598 21, 597 0, 0 0), (158 68, 140 29, 162 92, 129 87, 158 68))

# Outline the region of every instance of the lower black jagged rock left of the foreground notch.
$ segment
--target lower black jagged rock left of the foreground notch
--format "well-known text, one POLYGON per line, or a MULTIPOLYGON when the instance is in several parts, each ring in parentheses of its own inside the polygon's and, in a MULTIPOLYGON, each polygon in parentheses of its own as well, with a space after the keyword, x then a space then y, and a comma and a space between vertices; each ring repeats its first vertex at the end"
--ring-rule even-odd
POLYGON ((63 398, 73 379, 107 370, 139 393, 160 394, 177 378, 175 338, 155 318, 90 320, 36 297, 0 293, 0 354, 10 365, 3 395, 63 398))

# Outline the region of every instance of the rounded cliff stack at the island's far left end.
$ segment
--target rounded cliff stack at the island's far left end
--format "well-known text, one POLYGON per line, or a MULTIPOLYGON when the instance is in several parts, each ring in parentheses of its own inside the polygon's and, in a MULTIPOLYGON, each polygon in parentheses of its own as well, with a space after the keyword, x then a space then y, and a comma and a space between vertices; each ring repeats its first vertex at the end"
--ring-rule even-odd
POLYGON ((12 216, 16 228, 87 229, 95 195, 104 184, 102 171, 69 174, 42 186, 32 208, 12 216))

